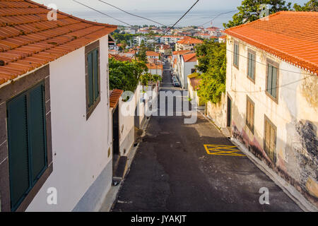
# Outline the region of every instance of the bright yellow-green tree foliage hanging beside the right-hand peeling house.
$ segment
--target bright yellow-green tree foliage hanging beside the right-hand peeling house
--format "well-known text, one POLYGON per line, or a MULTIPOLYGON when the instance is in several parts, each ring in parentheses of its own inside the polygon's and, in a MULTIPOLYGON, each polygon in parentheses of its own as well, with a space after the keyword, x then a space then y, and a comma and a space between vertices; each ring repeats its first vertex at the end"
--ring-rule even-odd
POLYGON ((226 44, 206 40, 196 46, 196 55, 199 61, 196 69, 201 72, 198 95, 205 102, 218 103, 225 92, 226 44))

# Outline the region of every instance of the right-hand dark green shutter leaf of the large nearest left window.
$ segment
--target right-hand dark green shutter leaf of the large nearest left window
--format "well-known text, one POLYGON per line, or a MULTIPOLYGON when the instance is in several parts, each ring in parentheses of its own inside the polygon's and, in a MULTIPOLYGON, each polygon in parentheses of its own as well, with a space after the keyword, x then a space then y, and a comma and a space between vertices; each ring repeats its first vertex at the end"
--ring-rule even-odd
POLYGON ((45 138, 45 100, 42 84, 29 93, 29 141, 31 153, 31 181, 35 183, 47 167, 45 138))

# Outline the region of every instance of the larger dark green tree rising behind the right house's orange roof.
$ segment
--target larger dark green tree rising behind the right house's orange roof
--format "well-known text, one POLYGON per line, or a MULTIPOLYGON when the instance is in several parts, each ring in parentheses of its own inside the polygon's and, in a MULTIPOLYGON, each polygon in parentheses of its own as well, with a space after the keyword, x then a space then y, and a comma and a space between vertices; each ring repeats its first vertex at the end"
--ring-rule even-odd
MULTIPOLYGON (((317 1, 317 0, 316 0, 317 1)), ((291 3, 283 0, 244 0, 242 5, 238 6, 238 13, 235 13, 232 20, 228 23, 224 23, 224 28, 232 28, 237 25, 242 25, 244 23, 252 22, 261 18, 262 6, 266 4, 269 8, 269 14, 276 13, 278 11, 288 11, 290 10, 291 3)), ((264 13, 264 12, 263 12, 264 13)))

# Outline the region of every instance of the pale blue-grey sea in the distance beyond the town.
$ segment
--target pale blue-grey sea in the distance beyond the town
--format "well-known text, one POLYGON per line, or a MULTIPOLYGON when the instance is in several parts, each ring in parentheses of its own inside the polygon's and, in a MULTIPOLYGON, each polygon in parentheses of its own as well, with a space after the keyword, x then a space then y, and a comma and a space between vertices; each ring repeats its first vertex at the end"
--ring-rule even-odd
MULTIPOLYGON (((118 20, 122 20, 125 23, 129 23, 131 25, 157 25, 159 24, 153 23, 148 20, 144 20, 142 18, 137 18, 135 16, 131 16, 122 11, 102 11, 102 13, 106 13, 109 16, 117 18, 118 20)), ((176 27, 185 27, 188 25, 200 26, 206 23, 204 26, 209 27, 211 23, 207 23, 212 20, 220 13, 226 13, 229 11, 235 11, 235 9, 229 10, 218 10, 218 11, 190 11, 182 20, 177 23, 176 27)), ((79 18, 83 18, 86 20, 92 20, 99 23, 110 23, 114 25, 126 25, 124 23, 120 23, 113 18, 107 17, 102 13, 98 13, 91 9, 87 9, 86 11, 67 11, 67 13, 71 13, 73 16, 77 16, 79 18)), ((173 25, 181 16, 184 14, 184 11, 129 11, 129 13, 134 13, 139 16, 143 16, 145 18, 149 18, 151 20, 155 20, 159 23, 162 23, 167 26, 173 25)), ((228 23, 228 20, 232 19, 232 16, 235 12, 226 13, 221 16, 218 16, 215 20, 213 20, 213 26, 223 29, 223 23, 228 23)))

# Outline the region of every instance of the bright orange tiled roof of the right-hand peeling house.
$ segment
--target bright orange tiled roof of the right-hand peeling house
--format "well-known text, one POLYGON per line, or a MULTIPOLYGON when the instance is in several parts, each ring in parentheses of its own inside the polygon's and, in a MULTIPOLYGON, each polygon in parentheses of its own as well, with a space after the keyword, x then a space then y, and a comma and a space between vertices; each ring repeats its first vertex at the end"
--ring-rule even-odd
POLYGON ((281 11, 225 33, 318 74, 318 12, 281 11))

